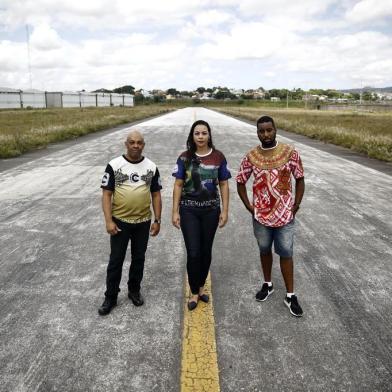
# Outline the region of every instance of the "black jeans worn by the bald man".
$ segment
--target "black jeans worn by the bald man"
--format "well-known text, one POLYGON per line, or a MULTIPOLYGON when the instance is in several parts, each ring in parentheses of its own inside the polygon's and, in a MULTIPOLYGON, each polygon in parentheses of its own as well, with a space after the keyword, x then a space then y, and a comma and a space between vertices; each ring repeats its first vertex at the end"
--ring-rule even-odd
POLYGON ((129 240, 131 240, 132 260, 129 267, 128 290, 132 293, 140 291, 151 221, 126 223, 116 218, 113 218, 113 221, 121 231, 110 236, 110 258, 105 296, 116 299, 120 291, 122 267, 129 240))

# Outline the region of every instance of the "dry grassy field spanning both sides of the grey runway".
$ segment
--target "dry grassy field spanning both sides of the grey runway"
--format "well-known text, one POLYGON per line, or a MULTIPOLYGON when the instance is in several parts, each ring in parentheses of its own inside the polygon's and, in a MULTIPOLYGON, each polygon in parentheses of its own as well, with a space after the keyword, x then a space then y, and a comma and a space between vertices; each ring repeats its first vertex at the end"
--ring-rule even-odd
MULTIPOLYGON (((290 102, 289 106, 294 106, 290 102)), ((297 102, 298 106, 303 105, 297 102)), ((178 100, 132 108, 0 110, 0 158, 10 158, 49 143, 130 123, 186 106, 211 107, 256 122, 271 115, 279 128, 341 145, 392 162, 392 112, 359 113, 286 109, 285 102, 178 100)))

